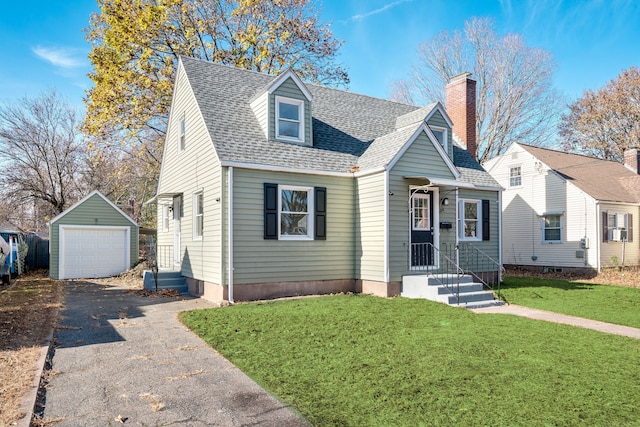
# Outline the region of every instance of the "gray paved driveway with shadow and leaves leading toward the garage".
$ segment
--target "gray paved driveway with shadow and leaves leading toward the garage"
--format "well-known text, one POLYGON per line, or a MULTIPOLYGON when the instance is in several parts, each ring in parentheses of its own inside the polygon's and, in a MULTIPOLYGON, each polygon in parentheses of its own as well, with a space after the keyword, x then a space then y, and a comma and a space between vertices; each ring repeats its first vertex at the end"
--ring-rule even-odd
MULTIPOLYGON (((56 426, 303 426, 178 320, 202 299, 73 281, 54 336, 43 418, 56 426)), ((45 375, 47 376, 47 375, 45 375)))

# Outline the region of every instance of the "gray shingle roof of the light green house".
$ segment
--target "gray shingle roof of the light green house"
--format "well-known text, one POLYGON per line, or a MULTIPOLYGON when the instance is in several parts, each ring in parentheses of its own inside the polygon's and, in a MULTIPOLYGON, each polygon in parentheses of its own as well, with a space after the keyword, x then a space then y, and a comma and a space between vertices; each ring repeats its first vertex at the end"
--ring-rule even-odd
MULTIPOLYGON (((267 140, 251 109, 251 100, 276 77, 192 58, 182 64, 222 161, 319 172, 385 166, 417 129, 419 116, 436 105, 418 108, 305 83, 313 96, 314 146, 304 147, 267 140), (416 125, 396 130, 398 121, 416 125)), ((471 156, 458 153, 453 160, 463 167, 463 180, 497 186, 471 156)))

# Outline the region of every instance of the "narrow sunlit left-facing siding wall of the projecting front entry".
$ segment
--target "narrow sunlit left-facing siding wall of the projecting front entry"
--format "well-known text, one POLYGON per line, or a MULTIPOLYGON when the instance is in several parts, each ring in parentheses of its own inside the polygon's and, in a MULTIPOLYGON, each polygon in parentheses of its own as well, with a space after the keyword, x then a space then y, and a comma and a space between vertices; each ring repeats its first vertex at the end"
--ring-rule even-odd
POLYGON ((384 281, 384 181, 384 172, 355 181, 356 278, 363 280, 384 281))

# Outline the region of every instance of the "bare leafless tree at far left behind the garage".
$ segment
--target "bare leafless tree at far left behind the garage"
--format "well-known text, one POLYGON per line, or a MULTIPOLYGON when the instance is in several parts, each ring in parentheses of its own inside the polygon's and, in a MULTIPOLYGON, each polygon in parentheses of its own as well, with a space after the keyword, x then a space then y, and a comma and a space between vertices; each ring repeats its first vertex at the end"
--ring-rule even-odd
POLYGON ((84 156, 79 121, 54 90, 0 107, 3 203, 50 217, 79 198, 84 156))

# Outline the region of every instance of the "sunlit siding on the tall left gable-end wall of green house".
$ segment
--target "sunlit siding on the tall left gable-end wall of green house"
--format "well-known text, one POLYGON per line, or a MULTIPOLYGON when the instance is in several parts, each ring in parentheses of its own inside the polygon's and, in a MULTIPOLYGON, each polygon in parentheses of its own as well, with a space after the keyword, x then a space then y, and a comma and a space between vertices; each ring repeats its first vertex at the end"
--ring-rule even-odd
MULTIPOLYGON (((209 132, 202 120, 193 92, 182 69, 178 74, 169 127, 165 140, 158 194, 182 194, 180 221, 180 254, 182 274, 186 277, 221 283, 222 280, 222 220, 221 220, 221 168, 209 132), (186 121, 186 144, 178 150, 180 120, 186 121), (203 236, 193 237, 193 195, 202 190, 203 236)), ((172 204, 171 197, 158 201, 158 221, 162 217, 162 203, 172 204)), ((174 220, 169 231, 163 232, 158 224, 158 246, 172 248, 174 220)), ((171 256, 173 251, 169 251, 171 256)))

